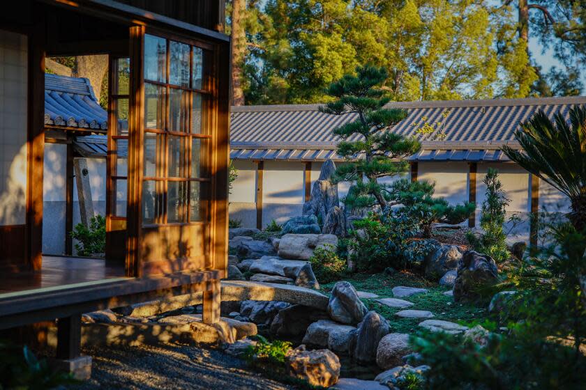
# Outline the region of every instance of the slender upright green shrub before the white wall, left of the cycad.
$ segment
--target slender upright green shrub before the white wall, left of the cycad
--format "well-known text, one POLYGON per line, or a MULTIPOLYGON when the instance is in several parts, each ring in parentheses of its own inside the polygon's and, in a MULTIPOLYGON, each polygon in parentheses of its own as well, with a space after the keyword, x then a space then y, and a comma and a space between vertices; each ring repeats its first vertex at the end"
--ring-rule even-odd
POLYGON ((480 227, 484 231, 479 236, 468 232, 466 237, 475 251, 486 253, 502 263, 510 257, 509 249, 506 248, 506 234, 504 233, 505 208, 510 200, 502 191, 502 184, 498 179, 498 171, 489 168, 484 177, 486 185, 486 199, 482 203, 480 227))

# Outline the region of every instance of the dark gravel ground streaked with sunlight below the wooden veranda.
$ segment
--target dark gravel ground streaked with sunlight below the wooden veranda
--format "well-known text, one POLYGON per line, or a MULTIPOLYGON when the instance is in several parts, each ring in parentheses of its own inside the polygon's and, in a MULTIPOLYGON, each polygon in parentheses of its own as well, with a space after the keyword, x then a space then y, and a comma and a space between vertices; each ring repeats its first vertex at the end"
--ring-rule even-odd
MULTIPOLYGON (((188 345, 86 348, 93 359, 86 389, 294 389, 246 370, 240 359, 188 345)), ((73 390, 72 389, 72 390, 73 390)))

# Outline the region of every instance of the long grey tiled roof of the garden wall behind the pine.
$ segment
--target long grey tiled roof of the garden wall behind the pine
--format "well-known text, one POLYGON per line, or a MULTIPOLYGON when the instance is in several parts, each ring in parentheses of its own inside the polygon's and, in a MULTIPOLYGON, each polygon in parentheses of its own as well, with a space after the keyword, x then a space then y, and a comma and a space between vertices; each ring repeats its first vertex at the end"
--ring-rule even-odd
MULTIPOLYGON (((499 147, 516 144, 518 125, 541 109, 553 116, 566 115, 574 105, 586 104, 586 97, 530 98, 502 100, 451 100, 392 102, 387 107, 407 110, 407 118, 392 128, 404 136, 416 135, 422 118, 428 123, 444 122, 442 141, 422 142, 422 150, 410 157, 433 161, 506 161, 499 147), (442 114, 449 111, 444 119, 442 114)), ((323 114, 319 104, 232 107, 230 157, 233 159, 294 159, 321 161, 340 159, 336 155, 339 125, 356 119, 356 114, 323 114)), ((352 139, 350 139, 352 140, 352 139)))

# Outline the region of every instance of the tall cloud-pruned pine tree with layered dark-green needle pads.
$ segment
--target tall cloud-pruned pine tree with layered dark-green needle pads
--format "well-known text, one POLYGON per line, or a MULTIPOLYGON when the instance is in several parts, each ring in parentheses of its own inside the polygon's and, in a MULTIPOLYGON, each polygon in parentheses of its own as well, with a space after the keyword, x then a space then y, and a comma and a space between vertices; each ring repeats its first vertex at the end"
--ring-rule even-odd
POLYGON ((333 130, 342 139, 338 143, 338 155, 349 162, 357 158, 339 166, 332 177, 333 182, 356 183, 345 199, 350 209, 377 204, 384 209, 389 192, 378 179, 407 171, 403 157, 421 148, 416 139, 391 131, 393 125, 407 116, 407 111, 384 108, 389 98, 379 86, 387 77, 384 68, 359 66, 356 75, 345 75, 329 86, 327 94, 336 100, 320 107, 326 114, 356 114, 356 120, 333 130))

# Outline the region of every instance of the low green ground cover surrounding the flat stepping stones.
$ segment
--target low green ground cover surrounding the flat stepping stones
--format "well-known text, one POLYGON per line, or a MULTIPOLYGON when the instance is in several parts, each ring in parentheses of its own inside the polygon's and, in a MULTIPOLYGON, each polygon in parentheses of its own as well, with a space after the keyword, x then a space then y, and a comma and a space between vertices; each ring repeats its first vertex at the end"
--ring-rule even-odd
MULTIPOLYGON (((430 282, 411 272, 397 272, 393 275, 355 274, 345 280, 352 283, 356 290, 373 292, 380 298, 392 298, 393 292, 391 290, 396 286, 427 288, 429 292, 426 294, 412 295, 401 299, 414 304, 408 309, 431 311, 435 315, 434 320, 451 321, 470 327, 488 319, 488 309, 472 304, 453 302, 453 297, 444 295, 447 288, 438 286, 437 283, 430 282)), ((336 283, 324 284, 322 290, 329 294, 334 284, 336 283)), ((393 332, 410 333, 416 331, 419 322, 423 321, 420 318, 397 317, 395 313, 403 309, 390 308, 376 302, 376 299, 362 299, 362 302, 366 304, 368 310, 377 311, 389 320, 393 332)))

